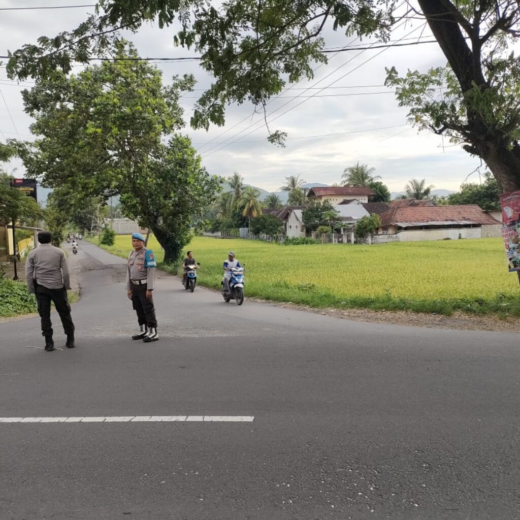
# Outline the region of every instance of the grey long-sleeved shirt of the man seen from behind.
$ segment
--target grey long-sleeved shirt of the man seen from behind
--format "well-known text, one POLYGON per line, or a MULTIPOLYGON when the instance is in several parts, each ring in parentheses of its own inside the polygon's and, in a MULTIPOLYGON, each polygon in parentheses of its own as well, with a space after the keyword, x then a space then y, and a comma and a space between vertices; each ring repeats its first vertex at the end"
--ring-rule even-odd
POLYGON ((25 261, 25 280, 30 293, 36 290, 34 280, 47 289, 70 289, 69 264, 64 251, 50 244, 38 245, 25 261))

